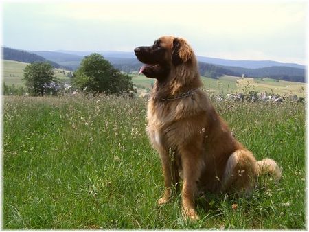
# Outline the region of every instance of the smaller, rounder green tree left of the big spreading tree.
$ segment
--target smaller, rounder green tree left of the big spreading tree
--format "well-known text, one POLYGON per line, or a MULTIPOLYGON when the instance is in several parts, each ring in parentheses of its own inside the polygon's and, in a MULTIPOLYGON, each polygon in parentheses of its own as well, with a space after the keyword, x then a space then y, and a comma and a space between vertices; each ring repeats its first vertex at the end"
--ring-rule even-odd
POLYGON ((25 67, 23 79, 30 95, 55 94, 58 80, 54 77, 54 67, 47 62, 34 62, 25 67))

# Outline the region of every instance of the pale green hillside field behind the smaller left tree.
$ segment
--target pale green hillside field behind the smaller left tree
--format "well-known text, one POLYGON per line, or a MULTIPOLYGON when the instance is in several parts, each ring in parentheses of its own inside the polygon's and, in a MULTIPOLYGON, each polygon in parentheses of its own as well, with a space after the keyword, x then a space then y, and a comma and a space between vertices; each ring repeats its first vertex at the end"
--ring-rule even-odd
MULTIPOLYGON (((14 84, 15 86, 24 86, 25 82, 23 78, 23 70, 29 64, 18 62, 14 60, 2 60, 3 64, 3 82, 8 85, 14 84)), ((60 80, 69 82, 69 78, 66 76, 68 71, 62 69, 55 69, 55 76, 60 80), (65 73, 63 73, 65 72, 65 73)))

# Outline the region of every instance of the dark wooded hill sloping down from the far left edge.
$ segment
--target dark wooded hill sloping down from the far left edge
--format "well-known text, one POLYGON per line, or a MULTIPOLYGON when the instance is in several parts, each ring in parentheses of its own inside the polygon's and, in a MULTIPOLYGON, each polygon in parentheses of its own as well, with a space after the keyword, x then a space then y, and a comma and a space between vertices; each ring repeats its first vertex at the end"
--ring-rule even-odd
POLYGON ((3 60, 14 60, 19 62, 25 63, 32 63, 32 62, 48 62, 55 68, 60 68, 60 65, 56 62, 51 60, 47 60, 42 56, 38 56, 37 54, 33 54, 27 51, 16 50, 8 47, 2 47, 3 51, 3 60))

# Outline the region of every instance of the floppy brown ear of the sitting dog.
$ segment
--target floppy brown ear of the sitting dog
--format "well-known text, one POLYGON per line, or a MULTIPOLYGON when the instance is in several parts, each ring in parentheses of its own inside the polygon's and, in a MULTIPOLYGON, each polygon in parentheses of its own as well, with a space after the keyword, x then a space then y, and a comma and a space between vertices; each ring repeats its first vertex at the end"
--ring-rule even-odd
POLYGON ((193 51, 190 45, 183 38, 174 38, 172 50, 173 65, 181 65, 193 56, 193 51))

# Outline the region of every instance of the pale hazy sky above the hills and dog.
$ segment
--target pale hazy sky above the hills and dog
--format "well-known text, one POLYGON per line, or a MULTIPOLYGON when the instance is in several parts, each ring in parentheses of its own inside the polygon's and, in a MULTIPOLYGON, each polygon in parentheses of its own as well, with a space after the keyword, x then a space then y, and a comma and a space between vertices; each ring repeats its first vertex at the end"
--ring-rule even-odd
POLYGON ((2 44, 133 51, 163 35, 196 54, 307 64, 307 1, 1 1, 2 44))

